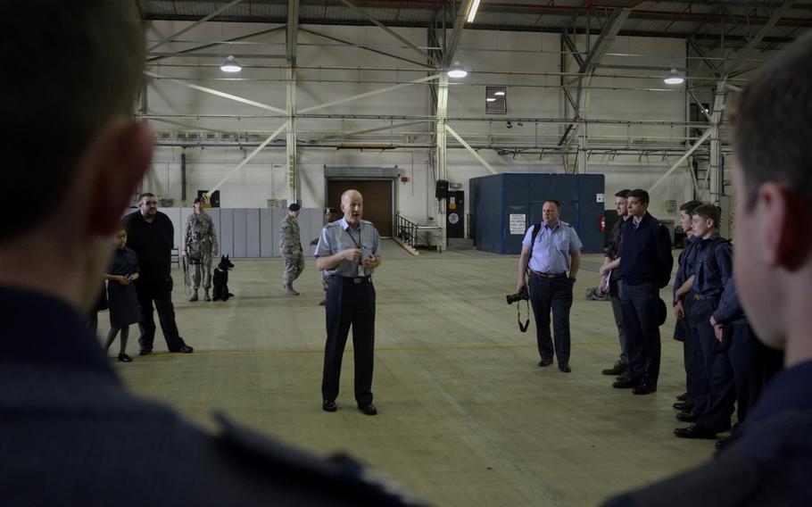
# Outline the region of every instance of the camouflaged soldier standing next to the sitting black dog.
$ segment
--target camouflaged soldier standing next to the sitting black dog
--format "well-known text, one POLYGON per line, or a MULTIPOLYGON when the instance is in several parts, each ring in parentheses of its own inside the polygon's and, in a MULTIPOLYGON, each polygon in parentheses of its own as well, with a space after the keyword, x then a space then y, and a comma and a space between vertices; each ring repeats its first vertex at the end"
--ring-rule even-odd
POLYGON ((190 278, 192 278, 192 296, 189 301, 197 301, 201 278, 203 278, 203 301, 211 301, 211 295, 209 295, 211 259, 218 254, 217 233, 214 232, 214 222, 211 221, 211 217, 203 211, 202 199, 195 199, 195 212, 186 220, 186 235, 183 244, 183 252, 189 262, 190 278))

